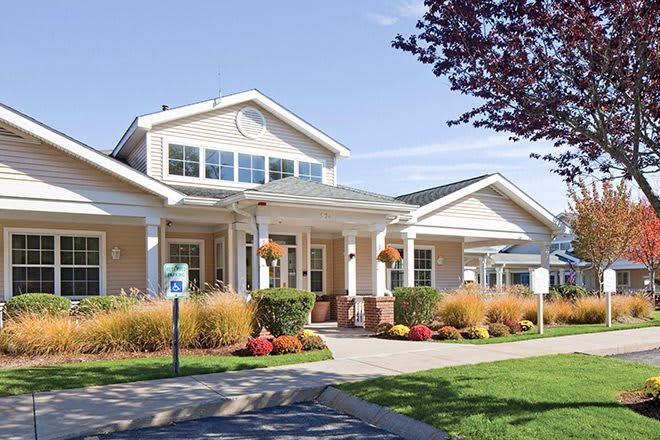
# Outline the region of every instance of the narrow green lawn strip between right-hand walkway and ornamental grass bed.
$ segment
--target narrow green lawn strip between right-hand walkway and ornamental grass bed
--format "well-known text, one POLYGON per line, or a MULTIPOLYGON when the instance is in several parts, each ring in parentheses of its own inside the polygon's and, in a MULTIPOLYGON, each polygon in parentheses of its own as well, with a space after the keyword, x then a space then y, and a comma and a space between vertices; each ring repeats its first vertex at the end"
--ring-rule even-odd
POLYGON ((574 325, 559 325, 556 327, 546 326, 543 335, 538 334, 538 329, 534 328, 529 332, 519 335, 503 336, 501 338, 489 339, 462 339, 460 341, 442 341, 454 344, 499 344, 501 342, 514 342, 524 341, 525 339, 539 339, 539 338, 552 338, 554 336, 568 336, 580 335, 584 333, 599 333, 611 332, 616 330, 628 330, 634 328, 644 327, 657 327, 660 326, 660 311, 653 312, 653 318, 649 321, 639 322, 635 324, 616 324, 613 323, 612 327, 607 327, 605 324, 574 324, 574 325))

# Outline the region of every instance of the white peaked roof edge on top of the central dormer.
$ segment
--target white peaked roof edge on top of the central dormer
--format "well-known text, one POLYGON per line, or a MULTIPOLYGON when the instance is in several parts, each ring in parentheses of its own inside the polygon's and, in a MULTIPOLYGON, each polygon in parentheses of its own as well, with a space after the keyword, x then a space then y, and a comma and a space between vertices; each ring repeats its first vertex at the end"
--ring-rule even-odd
POLYGON ((284 106, 273 101, 257 89, 234 93, 232 95, 227 95, 220 98, 209 99, 194 104, 170 108, 169 110, 161 112, 138 116, 133 120, 133 123, 126 130, 124 136, 122 136, 122 138, 119 140, 119 143, 112 152, 112 155, 117 156, 126 145, 133 145, 134 142, 141 138, 142 135, 150 130, 154 125, 163 124, 165 122, 170 122, 200 113, 211 112, 248 102, 254 102, 268 110, 270 113, 294 129, 309 136, 323 147, 332 151, 338 159, 344 159, 350 156, 350 150, 347 147, 332 139, 318 128, 312 126, 310 123, 292 111, 288 110, 284 106))

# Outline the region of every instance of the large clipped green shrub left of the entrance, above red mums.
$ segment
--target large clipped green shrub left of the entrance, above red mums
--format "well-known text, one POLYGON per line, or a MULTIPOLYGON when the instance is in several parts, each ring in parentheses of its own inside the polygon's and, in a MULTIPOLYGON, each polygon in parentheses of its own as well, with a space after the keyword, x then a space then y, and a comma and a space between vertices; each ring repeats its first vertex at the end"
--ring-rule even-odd
POLYGON ((252 297, 257 302, 259 324, 275 337, 298 334, 316 301, 311 292, 288 288, 258 290, 252 297))

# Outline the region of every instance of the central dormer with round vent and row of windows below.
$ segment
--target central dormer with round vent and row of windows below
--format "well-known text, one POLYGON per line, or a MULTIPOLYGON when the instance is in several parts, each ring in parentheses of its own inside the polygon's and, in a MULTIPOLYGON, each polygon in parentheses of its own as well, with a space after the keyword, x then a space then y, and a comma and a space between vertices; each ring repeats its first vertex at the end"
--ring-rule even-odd
POLYGON ((241 190, 289 176, 336 185, 350 151, 250 90, 139 116, 112 154, 168 184, 241 190))

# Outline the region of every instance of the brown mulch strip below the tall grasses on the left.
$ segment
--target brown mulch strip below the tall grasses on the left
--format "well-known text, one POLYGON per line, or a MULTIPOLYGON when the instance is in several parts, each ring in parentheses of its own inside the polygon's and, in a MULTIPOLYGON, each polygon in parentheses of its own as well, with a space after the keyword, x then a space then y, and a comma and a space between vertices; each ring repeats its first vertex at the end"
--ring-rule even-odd
MULTIPOLYGON (((245 347, 244 343, 228 345, 213 349, 181 349, 182 356, 238 356, 245 347)), ((172 350, 152 352, 113 352, 97 354, 52 354, 38 356, 11 356, 0 354, 0 369, 40 367, 45 365, 71 364, 91 361, 106 361, 120 359, 139 359, 171 356, 172 350)))

